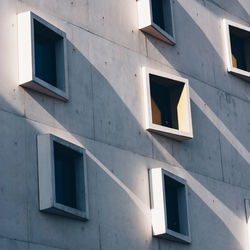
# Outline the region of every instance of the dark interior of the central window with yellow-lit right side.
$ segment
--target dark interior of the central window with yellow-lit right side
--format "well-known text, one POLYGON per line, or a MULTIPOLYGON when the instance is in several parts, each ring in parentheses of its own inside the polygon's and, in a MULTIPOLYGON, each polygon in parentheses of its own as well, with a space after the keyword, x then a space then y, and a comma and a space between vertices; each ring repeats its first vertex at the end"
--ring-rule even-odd
POLYGON ((177 105, 184 84, 171 79, 149 75, 152 122, 178 129, 177 105))

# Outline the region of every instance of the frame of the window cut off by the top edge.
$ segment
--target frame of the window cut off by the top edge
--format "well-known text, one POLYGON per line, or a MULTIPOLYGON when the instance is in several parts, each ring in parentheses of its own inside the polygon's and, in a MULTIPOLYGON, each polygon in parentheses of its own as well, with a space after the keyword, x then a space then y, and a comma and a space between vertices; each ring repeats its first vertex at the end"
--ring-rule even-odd
POLYGON ((170 45, 175 45, 175 27, 173 18, 173 0, 170 0, 170 12, 171 12, 171 22, 173 35, 168 34, 165 30, 159 27, 153 21, 153 10, 152 2, 153 0, 137 0, 137 9, 139 17, 139 29, 149 33, 150 35, 169 43, 170 45))

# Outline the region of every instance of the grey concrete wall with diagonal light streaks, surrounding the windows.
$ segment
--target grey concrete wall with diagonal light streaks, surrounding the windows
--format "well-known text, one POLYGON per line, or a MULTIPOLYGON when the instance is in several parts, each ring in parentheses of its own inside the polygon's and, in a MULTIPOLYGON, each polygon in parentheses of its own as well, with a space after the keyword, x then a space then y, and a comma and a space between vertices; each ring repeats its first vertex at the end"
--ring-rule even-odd
POLYGON ((250 84, 226 71, 221 25, 249 13, 248 0, 174 0, 171 47, 138 30, 136 0, 1 0, 0 249, 249 249, 250 84), (26 10, 67 33, 67 103, 17 85, 26 10), (189 79, 194 139, 144 130, 142 66, 189 79), (88 222, 39 212, 39 133, 88 149, 88 222), (190 245, 152 237, 155 167, 187 180, 190 245))

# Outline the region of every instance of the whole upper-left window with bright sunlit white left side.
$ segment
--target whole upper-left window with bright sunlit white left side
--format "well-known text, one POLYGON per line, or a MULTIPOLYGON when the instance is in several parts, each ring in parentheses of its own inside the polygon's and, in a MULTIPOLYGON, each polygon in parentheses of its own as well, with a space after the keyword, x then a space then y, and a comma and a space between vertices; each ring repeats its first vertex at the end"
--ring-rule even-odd
POLYGON ((66 34, 32 12, 18 15, 19 85, 68 100, 66 34))

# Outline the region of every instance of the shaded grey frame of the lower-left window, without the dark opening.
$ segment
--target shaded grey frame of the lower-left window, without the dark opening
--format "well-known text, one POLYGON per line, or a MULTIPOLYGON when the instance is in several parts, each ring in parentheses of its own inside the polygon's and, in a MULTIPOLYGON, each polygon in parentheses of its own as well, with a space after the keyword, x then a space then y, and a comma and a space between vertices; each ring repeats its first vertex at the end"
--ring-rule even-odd
POLYGON ((37 136, 38 152, 38 180, 39 180, 39 207, 41 211, 71 217, 80 220, 89 219, 88 208, 88 185, 86 150, 71 142, 65 141, 52 134, 42 134, 37 136), (85 211, 75 209, 56 202, 55 191, 55 164, 54 164, 54 142, 72 149, 82 155, 82 176, 84 181, 84 204, 85 211))

